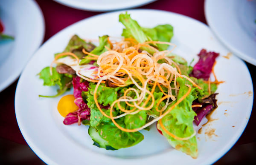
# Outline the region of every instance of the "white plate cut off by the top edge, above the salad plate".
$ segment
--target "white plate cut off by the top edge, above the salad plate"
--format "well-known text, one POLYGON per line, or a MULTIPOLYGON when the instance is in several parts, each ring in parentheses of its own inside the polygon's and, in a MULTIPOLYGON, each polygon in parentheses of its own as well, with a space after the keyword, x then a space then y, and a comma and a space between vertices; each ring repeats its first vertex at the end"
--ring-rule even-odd
POLYGON ((66 6, 88 11, 111 11, 146 5, 155 0, 55 0, 66 6))

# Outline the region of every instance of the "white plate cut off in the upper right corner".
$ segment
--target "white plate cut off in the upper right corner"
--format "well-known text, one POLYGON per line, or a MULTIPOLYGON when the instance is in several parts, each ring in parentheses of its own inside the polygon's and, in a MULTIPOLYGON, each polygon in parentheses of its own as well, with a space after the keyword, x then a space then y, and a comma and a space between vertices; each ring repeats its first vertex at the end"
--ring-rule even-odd
POLYGON ((206 0, 204 11, 218 39, 256 65, 256 0, 206 0))

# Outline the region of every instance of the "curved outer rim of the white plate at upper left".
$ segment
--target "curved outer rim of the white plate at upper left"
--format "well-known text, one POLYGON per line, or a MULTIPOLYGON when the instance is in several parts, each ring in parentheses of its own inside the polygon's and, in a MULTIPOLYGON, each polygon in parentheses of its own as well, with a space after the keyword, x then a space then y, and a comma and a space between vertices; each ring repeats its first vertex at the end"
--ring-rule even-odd
POLYGON ((23 63, 22 69, 20 69, 20 71, 13 71, 12 74, 8 77, 8 79, 4 80, 3 83, 0 83, 0 92, 4 91, 6 88, 8 88, 10 85, 12 85, 12 83, 15 82, 15 80, 17 80, 21 74, 21 72, 23 71, 23 69, 26 67, 27 63, 29 62, 29 60, 31 59, 31 57, 33 56, 33 54, 35 54, 35 52, 38 50, 38 48, 41 46, 41 44, 44 41, 44 36, 45 36, 45 21, 44 21, 44 14, 40 8, 40 6, 38 5, 38 3, 35 0, 28 0, 27 3, 31 3, 36 11, 38 12, 38 20, 41 22, 41 30, 39 30, 38 33, 40 33, 40 39, 37 40, 37 46, 35 46, 33 53, 28 55, 28 59, 23 63))

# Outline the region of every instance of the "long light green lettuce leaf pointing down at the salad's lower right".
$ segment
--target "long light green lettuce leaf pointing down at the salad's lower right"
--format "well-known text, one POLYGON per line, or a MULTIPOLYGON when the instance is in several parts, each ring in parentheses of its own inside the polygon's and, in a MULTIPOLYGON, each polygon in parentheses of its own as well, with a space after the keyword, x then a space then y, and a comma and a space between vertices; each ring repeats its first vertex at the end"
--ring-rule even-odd
MULTIPOLYGON (((177 96, 177 100, 179 100, 184 94, 186 94, 189 89, 185 84, 189 84, 191 86, 192 84, 185 79, 181 79, 180 77, 177 78, 177 82, 180 84, 180 90, 177 96)), ((193 120, 196 114, 192 110, 191 105, 193 100, 198 98, 198 95, 201 95, 202 93, 202 90, 192 87, 190 94, 172 111, 170 111, 169 114, 162 118, 163 125, 169 132, 176 135, 177 137, 189 137, 194 133, 193 120)), ((175 102, 169 105, 169 107, 174 103, 175 102)), ((167 110, 169 107, 167 107, 167 110)), ((163 135, 167 138, 169 144, 172 145, 172 147, 192 156, 193 158, 198 156, 198 148, 195 136, 188 140, 176 140, 170 137, 165 131, 163 131, 159 123, 157 124, 157 128, 163 132, 163 135)))

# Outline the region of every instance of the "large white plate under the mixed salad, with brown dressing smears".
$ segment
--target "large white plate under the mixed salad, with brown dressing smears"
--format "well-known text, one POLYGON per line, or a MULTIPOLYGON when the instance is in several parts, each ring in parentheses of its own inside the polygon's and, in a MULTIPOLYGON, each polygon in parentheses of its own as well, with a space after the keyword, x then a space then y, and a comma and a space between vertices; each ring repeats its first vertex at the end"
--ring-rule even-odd
POLYGON ((216 120, 207 124, 202 133, 197 135, 197 159, 172 149, 165 137, 157 133, 156 125, 152 125, 149 132, 143 130, 145 139, 134 147, 117 151, 97 148, 92 145, 87 126, 67 126, 62 123, 64 118, 56 108, 61 97, 38 97, 38 94, 51 95, 56 92, 56 88, 43 86, 43 81, 36 76, 42 68, 50 65, 54 53, 64 50, 73 34, 82 38, 97 38, 104 34, 120 37, 123 28, 118 22, 120 12, 100 14, 65 28, 44 43, 29 61, 20 76, 15 95, 17 122, 26 142, 42 160, 51 165, 155 165, 156 162, 206 165, 215 162, 235 144, 243 132, 253 105, 253 86, 244 62, 235 56, 230 59, 222 57, 228 53, 227 49, 221 46, 208 26, 192 18, 158 10, 128 11, 144 27, 172 24, 175 34, 172 42, 177 45, 175 52, 189 62, 194 57, 195 61, 198 59, 196 54, 201 48, 220 53, 215 73, 218 80, 225 83, 219 85, 217 91, 219 107, 211 116, 216 120))

